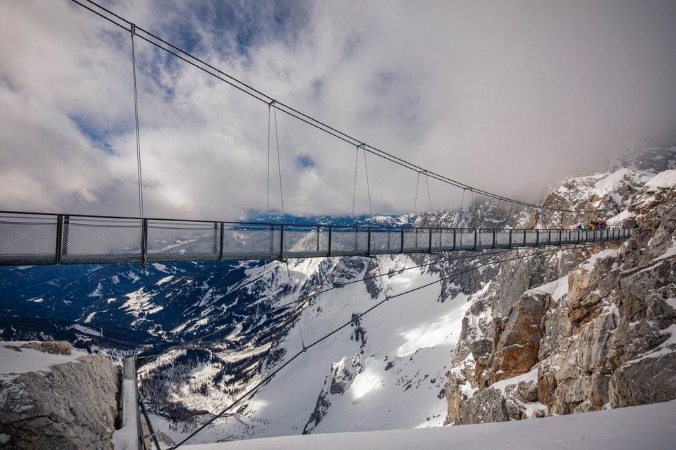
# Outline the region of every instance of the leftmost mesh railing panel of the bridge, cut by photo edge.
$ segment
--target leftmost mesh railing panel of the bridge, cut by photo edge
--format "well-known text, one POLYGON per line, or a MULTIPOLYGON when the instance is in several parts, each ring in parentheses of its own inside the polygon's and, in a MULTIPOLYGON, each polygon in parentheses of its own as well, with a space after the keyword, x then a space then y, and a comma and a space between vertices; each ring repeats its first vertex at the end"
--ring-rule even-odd
POLYGON ((57 218, 0 216, 0 262, 54 260, 57 218))

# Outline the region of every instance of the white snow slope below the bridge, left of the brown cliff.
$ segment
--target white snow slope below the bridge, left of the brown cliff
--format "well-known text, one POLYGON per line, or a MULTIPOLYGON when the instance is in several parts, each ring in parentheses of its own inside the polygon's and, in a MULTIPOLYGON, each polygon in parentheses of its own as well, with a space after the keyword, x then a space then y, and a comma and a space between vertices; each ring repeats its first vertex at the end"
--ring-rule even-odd
MULTIPOLYGON (((310 267, 312 264, 316 263, 311 260, 292 263, 292 278, 304 279, 307 272, 315 269, 310 267)), ((404 265, 411 267, 415 263, 406 256, 381 258, 383 272, 404 265)), ((355 278, 363 275, 364 270, 355 278)), ((438 275, 421 269, 410 270, 386 280, 388 295, 437 279, 438 275)), ((355 338, 355 327, 346 327, 279 372, 248 402, 245 410, 219 419, 214 427, 205 429, 197 436, 197 442, 303 432, 318 396, 332 383, 332 366, 341 360, 350 365, 354 377, 346 382, 344 392, 330 395, 330 408, 319 424, 312 427, 312 433, 441 425, 446 417, 446 401, 441 393, 446 382, 444 364, 450 361, 462 317, 470 303, 464 294, 441 303, 437 300, 439 292, 440 285, 432 285, 384 303, 361 319, 360 327, 366 330, 364 340, 355 338)), ((297 295, 290 293, 279 302, 297 295)), ((382 292, 372 298, 364 283, 321 294, 302 311, 279 347, 285 349, 288 358, 302 348, 301 330, 308 344, 348 322, 353 313, 364 311, 382 299, 382 292)), ((186 405, 207 406, 205 398, 190 396, 188 392, 186 397, 181 399, 186 405)), ((206 409, 217 411, 229 402, 222 397, 218 400, 206 409)), ((154 426, 175 440, 179 438, 179 433, 169 429, 164 420, 154 426)))

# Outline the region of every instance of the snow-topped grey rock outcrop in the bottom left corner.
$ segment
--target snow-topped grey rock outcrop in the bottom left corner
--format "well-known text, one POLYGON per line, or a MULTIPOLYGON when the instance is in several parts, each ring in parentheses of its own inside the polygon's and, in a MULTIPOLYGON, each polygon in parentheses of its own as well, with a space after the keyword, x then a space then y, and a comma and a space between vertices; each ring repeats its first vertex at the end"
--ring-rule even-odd
POLYGON ((0 350, 3 448, 112 448, 119 376, 110 359, 63 341, 2 342, 0 350))

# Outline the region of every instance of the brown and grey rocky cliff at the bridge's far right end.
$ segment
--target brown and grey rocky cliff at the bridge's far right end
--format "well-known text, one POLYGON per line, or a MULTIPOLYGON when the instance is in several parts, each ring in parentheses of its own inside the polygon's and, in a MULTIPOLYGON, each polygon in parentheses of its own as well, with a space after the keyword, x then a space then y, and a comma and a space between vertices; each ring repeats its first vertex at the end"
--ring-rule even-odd
MULTIPOLYGON (((644 176, 622 172, 606 198, 628 206, 616 212, 634 227, 629 241, 559 252, 546 270, 533 262, 502 267, 473 299, 449 372, 446 422, 676 398, 676 190, 653 181, 636 187, 644 176)), ((604 203, 597 192, 587 205, 604 203)))

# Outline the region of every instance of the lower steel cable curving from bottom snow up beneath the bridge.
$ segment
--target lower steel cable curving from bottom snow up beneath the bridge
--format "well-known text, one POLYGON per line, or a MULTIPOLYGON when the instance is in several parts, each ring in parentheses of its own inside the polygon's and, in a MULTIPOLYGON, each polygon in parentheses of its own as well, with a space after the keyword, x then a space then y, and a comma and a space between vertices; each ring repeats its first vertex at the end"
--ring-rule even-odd
POLYGON ((418 287, 414 287, 414 288, 412 288, 412 289, 408 289, 408 291, 400 292, 399 294, 395 294, 395 295, 390 296, 390 297, 386 296, 384 300, 380 300, 378 303, 376 303, 376 304, 373 305, 372 307, 366 309, 365 311, 362 311, 361 313, 358 313, 358 314, 353 314, 353 315, 352 315, 352 318, 350 318, 350 320, 349 320, 348 322, 344 323, 343 325, 340 325, 339 327, 337 327, 337 328, 333 329, 332 331, 330 331, 328 334, 325 334, 325 335, 322 336, 321 338, 315 340, 315 341, 312 342, 310 345, 308 345, 304 350, 301 350, 301 351, 297 352, 296 354, 294 354, 291 358, 289 358, 288 360, 286 360, 286 362, 284 362, 284 364, 282 364, 281 366, 277 367, 277 369, 275 369, 275 370, 273 370, 272 372, 270 372, 270 374, 264 376, 264 378, 262 378, 259 382, 257 382, 256 385, 254 385, 252 388, 248 389, 248 391, 246 391, 246 392, 243 393, 241 396, 239 396, 236 400, 234 400, 233 402, 231 402, 230 405, 228 405, 225 409, 221 410, 221 411, 220 411, 219 413, 217 413, 214 417, 212 417, 212 418, 210 418, 209 420, 207 420, 203 425, 201 425, 201 427, 199 427, 198 429, 196 429, 195 431, 193 431, 192 433, 190 433, 190 435, 188 435, 186 438, 184 438, 183 440, 181 440, 181 442, 179 442, 178 444, 176 444, 174 447, 171 447, 171 450, 175 450, 175 449, 177 449, 178 447, 180 447, 181 445, 185 444, 186 442, 188 442, 188 440, 190 440, 190 439, 191 439, 193 436, 195 436, 197 433, 199 433, 200 431, 202 431, 203 429, 205 429, 206 427, 208 427, 210 424, 212 424, 212 423, 213 423, 215 420, 217 420, 218 418, 221 418, 221 417, 223 416, 223 414, 225 414, 226 412, 230 411, 230 409, 232 409, 232 407, 235 407, 236 405, 239 405, 239 403, 241 403, 243 400, 245 400, 246 398, 248 398, 248 397, 251 396, 252 394, 255 394, 261 386, 263 386, 266 382, 268 382, 269 380, 271 380, 272 377, 274 377, 275 375, 277 375, 277 374, 279 373, 279 371, 281 371, 282 369, 284 369, 285 367, 287 367, 288 365, 290 365, 290 363, 293 362, 293 361, 294 361, 296 358, 298 358, 299 356, 301 356, 301 354, 304 354, 305 351, 308 351, 308 350, 311 349, 312 347, 315 347, 315 345, 318 345, 319 343, 321 343, 321 342, 323 342, 324 340, 330 338, 331 336, 333 336, 334 334, 338 333, 338 332, 341 331, 342 329, 344 329, 344 328, 350 326, 352 323, 355 322, 355 320, 361 319, 362 317, 366 316, 366 314, 370 313, 370 312, 373 311, 374 309, 377 309, 377 308, 380 307, 383 303, 386 303, 386 302, 388 302, 388 301, 390 301, 390 300, 392 300, 392 299, 394 299, 394 298, 397 298, 397 297, 405 296, 406 294, 411 294, 412 292, 417 292, 417 291, 419 291, 420 289, 424 289, 424 288, 426 288, 426 287, 430 287, 430 286, 432 286, 432 285, 436 285, 436 284, 438 284, 438 283, 443 282, 444 280, 450 280, 451 278, 455 278, 455 277, 457 277, 457 276, 461 276, 462 274, 466 274, 466 273, 469 273, 469 272, 473 272, 473 271, 475 271, 475 270, 477 270, 477 269, 479 269, 479 268, 481 268, 481 267, 486 267, 486 266, 488 266, 488 265, 497 265, 497 264, 507 263, 508 261, 513 261, 513 260, 522 259, 522 258, 532 258, 533 256, 537 256, 537 255, 540 255, 540 254, 545 254, 545 253, 550 253, 550 252, 558 252, 558 251, 559 251, 559 249, 556 249, 556 250, 544 250, 544 251, 542 251, 542 252, 536 252, 536 253, 529 254, 529 255, 517 256, 517 257, 515 257, 515 258, 508 258, 508 259, 504 259, 504 260, 501 260, 501 261, 495 261, 495 262, 492 262, 492 263, 484 263, 484 264, 481 264, 481 265, 477 265, 477 266, 475 266, 475 267, 470 267, 469 269, 465 269, 465 270, 463 270, 463 271, 461 271, 461 272, 456 272, 455 274, 451 274, 451 275, 449 275, 449 276, 441 277, 441 278, 439 278, 438 280, 432 281, 432 282, 430 282, 430 283, 426 283, 426 284, 424 284, 424 285, 421 285, 421 286, 418 286, 418 287))

